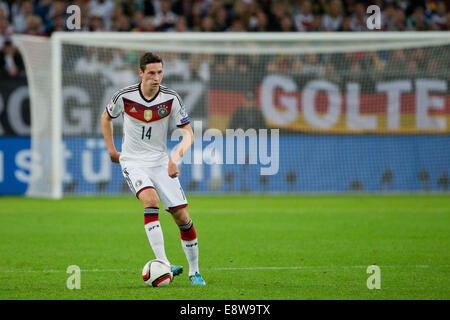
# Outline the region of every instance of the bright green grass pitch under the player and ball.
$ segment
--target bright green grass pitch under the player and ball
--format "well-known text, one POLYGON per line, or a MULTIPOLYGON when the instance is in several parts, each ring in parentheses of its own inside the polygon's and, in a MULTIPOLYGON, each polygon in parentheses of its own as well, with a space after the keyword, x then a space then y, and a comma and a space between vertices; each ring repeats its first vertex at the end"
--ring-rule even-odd
POLYGON ((189 197, 206 287, 192 287, 179 230, 166 252, 185 272, 141 279, 153 259, 133 196, 0 198, 0 299, 450 299, 448 195, 189 197), (366 269, 380 267, 381 289, 366 269), (66 287, 81 268, 81 289, 66 287))

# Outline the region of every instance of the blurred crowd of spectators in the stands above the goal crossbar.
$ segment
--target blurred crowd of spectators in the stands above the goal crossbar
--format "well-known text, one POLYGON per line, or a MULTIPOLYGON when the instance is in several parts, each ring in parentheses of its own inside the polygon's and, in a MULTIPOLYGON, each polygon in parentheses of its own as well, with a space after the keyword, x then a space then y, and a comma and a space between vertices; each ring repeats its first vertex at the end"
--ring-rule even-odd
MULTIPOLYGON (((450 0, 0 0, 0 76, 23 69, 12 34, 68 31, 70 5, 80 8, 79 31, 311 32, 366 31, 371 4, 381 9, 383 31, 450 30, 450 0)), ((314 60, 307 57, 303 69, 325 70, 314 60)), ((366 60, 383 65, 380 59, 366 60)), ((269 68, 284 64, 275 61, 269 68)))

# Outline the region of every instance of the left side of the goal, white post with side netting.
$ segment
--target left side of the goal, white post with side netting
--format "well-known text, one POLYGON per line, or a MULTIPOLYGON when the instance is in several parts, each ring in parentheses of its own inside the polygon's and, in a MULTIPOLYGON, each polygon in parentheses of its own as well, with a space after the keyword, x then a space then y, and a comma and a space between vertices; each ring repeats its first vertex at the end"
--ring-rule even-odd
POLYGON ((30 197, 62 197, 61 46, 46 37, 15 35, 30 95, 30 197))

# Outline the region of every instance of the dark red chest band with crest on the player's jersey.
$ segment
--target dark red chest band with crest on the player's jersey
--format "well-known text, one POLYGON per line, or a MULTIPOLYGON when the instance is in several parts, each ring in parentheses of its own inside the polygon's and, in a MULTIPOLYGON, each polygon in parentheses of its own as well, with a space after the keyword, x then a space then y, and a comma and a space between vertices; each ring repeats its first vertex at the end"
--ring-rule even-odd
POLYGON ((173 99, 148 107, 127 98, 123 98, 125 113, 128 116, 145 123, 158 121, 169 116, 172 111, 172 104, 173 99))

